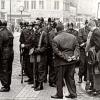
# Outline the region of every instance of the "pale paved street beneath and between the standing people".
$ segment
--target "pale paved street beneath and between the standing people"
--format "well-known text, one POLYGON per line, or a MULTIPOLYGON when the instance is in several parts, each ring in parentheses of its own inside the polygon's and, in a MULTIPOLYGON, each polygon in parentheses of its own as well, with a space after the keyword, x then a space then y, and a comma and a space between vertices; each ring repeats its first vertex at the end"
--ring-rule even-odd
MULTIPOLYGON (((48 84, 44 84, 43 91, 34 91, 31 86, 27 85, 26 83, 21 84, 21 66, 20 66, 20 58, 19 58, 19 33, 14 33, 14 62, 13 62, 13 73, 12 73, 12 84, 11 84, 11 91, 10 92, 3 92, 0 93, 0 100, 54 100, 51 99, 51 95, 56 93, 56 88, 49 87, 48 84)), ((77 86, 77 94, 78 97, 76 100, 100 100, 100 97, 92 97, 85 93, 84 87, 85 83, 79 85, 78 84, 78 69, 76 69, 75 80, 77 86)), ((26 80, 27 77, 24 77, 26 80)), ((1 87, 1 85, 0 85, 1 87)), ((66 99, 65 95, 68 94, 67 89, 64 87, 64 98, 63 100, 70 100, 66 99)))

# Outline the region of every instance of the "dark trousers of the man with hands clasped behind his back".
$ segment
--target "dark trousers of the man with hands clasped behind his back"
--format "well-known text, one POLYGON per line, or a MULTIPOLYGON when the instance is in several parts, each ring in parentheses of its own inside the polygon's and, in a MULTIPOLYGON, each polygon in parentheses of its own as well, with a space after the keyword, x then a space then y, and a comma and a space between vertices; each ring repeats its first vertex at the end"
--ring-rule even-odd
POLYGON ((57 74, 57 95, 63 96, 63 79, 67 85, 68 91, 71 95, 77 96, 76 85, 74 80, 75 65, 58 66, 56 68, 57 74))

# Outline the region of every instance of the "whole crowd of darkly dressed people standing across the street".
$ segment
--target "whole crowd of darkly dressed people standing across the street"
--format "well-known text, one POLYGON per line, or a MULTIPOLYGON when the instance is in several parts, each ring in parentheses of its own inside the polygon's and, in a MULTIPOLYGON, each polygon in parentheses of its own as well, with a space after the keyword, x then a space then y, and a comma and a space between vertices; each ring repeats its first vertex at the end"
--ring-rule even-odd
MULTIPOLYGON (((20 63, 22 76, 26 75, 28 84, 33 84, 35 91, 44 89, 49 82, 56 87, 57 93, 51 98, 63 98, 63 86, 67 85, 69 95, 66 98, 77 98, 75 85, 75 68, 79 67, 78 83, 86 81, 86 92, 96 95, 95 68, 100 71, 100 29, 95 20, 86 20, 79 31, 73 23, 68 23, 67 30, 61 22, 48 18, 37 18, 34 22, 21 22, 20 63)), ((7 29, 7 22, 0 21, 0 92, 10 90, 13 35, 7 29)), ((23 79, 22 79, 23 82, 23 79)))

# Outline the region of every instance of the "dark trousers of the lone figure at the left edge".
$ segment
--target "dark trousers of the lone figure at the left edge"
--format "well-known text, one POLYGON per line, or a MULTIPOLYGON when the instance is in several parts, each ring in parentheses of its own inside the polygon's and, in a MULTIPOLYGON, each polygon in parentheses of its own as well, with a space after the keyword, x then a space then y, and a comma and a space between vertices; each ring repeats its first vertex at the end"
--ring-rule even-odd
POLYGON ((2 60, 2 73, 0 79, 2 86, 5 88, 10 87, 11 85, 12 62, 13 55, 9 59, 2 60))

